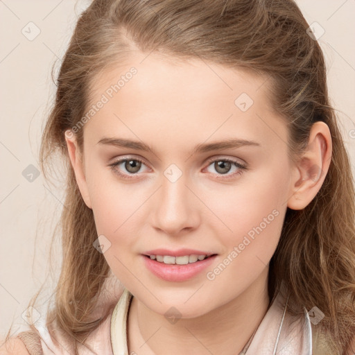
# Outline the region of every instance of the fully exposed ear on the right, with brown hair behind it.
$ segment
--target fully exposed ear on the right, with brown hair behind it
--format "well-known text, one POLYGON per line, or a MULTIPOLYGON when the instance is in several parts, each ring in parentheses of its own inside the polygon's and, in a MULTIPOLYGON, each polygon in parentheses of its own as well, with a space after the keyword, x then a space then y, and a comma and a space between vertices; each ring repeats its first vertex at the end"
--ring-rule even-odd
POLYGON ((293 168, 287 207, 304 209, 322 187, 331 162, 331 133, 326 123, 313 123, 306 151, 293 168))

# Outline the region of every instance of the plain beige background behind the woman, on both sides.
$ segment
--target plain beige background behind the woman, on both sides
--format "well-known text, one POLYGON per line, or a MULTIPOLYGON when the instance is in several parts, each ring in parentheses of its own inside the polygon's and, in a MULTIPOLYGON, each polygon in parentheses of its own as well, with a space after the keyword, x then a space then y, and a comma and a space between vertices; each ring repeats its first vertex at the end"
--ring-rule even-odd
MULTIPOLYGON (((0 338, 12 321, 12 334, 26 328, 21 314, 49 271, 47 254, 62 209, 63 189, 48 185, 42 175, 33 175, 30 182, 22 172, 30 169, 31 173, 30 164, 39 167, 40 134, 55 92, 51 67, 58 60, 58 69, 76 19, 89 2, 0 0, 0 338), (40 34, 32 39, 35 31, 40 34)), ((319 42, 327 60, 329 93, 340 111, 355 175, 355 1, 297 3, 309 24, 316 21, 321 26, 315 25, 316 33, 324 28, 319 42)), ((58 247, 54 257, 52 271, 58 275, 58 247)), ((42 304, 46 299, 41 299, 42 304)))

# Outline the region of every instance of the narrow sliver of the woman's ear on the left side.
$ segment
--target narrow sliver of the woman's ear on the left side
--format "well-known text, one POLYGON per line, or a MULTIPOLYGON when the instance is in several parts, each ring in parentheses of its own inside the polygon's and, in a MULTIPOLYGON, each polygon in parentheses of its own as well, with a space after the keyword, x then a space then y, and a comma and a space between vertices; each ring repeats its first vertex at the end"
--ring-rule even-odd
POLYGON ((78 148, 76 141, 76 135, 73 135, 71 130, 65 131, 65 141, 67 142, 67 148, 69 153, 69 158, 73 171, 75 173, 76 182, 78 184, 81 196, 85 202, 85 205, 92 209, 92 202, 89 198, 89 191, 87 189, 87 182, 85 178, 85 166, 83 162, 83 155, 78 148))

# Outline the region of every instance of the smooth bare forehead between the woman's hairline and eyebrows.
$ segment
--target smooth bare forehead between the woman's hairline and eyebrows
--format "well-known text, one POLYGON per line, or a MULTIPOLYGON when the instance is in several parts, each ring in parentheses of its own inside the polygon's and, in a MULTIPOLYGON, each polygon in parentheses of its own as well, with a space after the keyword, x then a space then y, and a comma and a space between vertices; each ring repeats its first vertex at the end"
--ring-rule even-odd
POLYGON ((105 103, 85 130, 92 139, 116 134, 149 144, 159 135, 184 144, 212 135, 285 141, 286 125, 272 112, 268 85, 251 70, 137 52, 93 81, 90 105, 105 103))

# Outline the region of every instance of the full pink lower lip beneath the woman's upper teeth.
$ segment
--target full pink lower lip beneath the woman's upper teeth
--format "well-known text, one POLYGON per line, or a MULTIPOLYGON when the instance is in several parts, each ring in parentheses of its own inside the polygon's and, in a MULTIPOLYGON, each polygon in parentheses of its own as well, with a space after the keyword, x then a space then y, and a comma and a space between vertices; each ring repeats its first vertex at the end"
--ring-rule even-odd
POLYGON ((187 279, 191 279, 191 277, 198 275, 198 273, 210 266, 216 257, 217 255, 214 255, 213 257, 208 257, 202 261, 196 261, 196 263, 177 265, 160 263, 159 261, 150 259, 150 257, 143 255, 146 267, 153 272, 155 276, 170 282, 183 282, 187 279))

